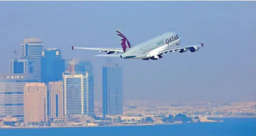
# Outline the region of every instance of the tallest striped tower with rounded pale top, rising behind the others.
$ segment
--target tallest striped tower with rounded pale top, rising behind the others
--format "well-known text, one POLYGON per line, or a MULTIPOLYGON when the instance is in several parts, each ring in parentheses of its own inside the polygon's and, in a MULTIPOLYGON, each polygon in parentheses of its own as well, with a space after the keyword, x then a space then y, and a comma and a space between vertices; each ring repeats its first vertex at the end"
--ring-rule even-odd
POLYGON ((30 37, 21 44, 21 59, 34 59, 34 75, 41 82, 41 57, 44 44, 40 38, 30 37))

